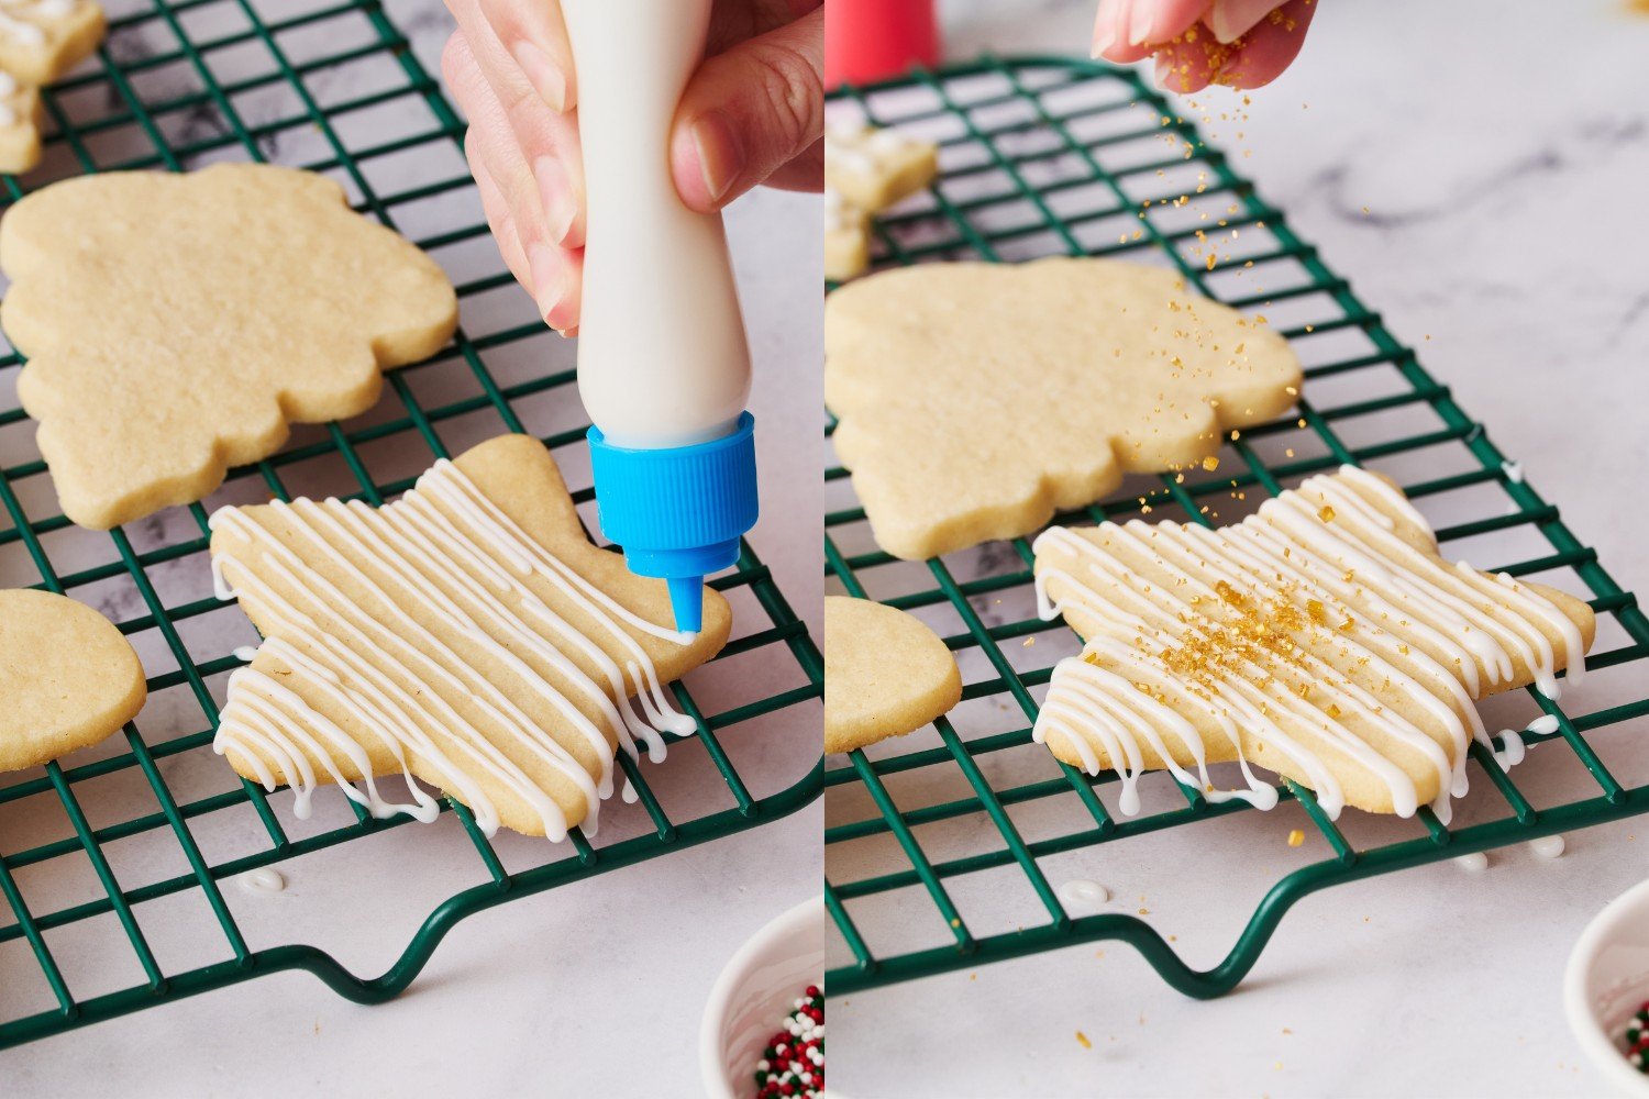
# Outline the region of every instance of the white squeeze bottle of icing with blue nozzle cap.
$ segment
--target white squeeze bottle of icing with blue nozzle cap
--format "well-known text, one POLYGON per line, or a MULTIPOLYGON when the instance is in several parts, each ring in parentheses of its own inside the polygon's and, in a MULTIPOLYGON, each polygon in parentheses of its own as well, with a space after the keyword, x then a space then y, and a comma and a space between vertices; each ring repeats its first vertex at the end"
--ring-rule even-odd
POLYGON ((707 573, 755 526, 750 351, 721 214, 669 173, 711 0, 562 0, 589 196, 579 392, 604 534, 696 633, 707 573))

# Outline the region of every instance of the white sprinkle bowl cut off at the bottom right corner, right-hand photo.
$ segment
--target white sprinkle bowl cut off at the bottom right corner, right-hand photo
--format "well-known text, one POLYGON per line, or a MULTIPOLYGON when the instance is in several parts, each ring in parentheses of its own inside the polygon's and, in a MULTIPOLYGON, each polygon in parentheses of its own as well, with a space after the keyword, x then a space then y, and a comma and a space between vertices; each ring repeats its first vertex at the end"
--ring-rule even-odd
POLYGON ((1580 933, 1563 972, 1563 1012, 1581 1050, 1623 1096, 1649 1096, 1626 1059, 1626 1023, 1649 1000, 1649 882, 1616 896, 1580 933))

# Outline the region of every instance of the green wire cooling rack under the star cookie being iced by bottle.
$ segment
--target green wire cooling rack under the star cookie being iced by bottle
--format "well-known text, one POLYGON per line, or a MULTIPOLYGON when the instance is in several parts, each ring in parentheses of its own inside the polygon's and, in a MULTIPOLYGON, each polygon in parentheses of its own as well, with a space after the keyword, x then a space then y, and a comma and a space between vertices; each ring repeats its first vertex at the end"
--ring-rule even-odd
MULTIPOLYGON (((206 506, 109 534, 58 514, 33 423, 13 395, 18 356, 0 358, 0 583, 102 608, 155 672, 150 704, 124 737, 0 776, 0 1048, 292 969, 350 1000, 381 1002, 477 911, 757 827, 818 796, 823 760, 796 751, 795 738, 777 741, 795 732, 793 707, 818 707, 820 652, 749 544, 735 572, 714 582, 734 603, 734 639, 689 677, 691 690, 673 685, 698 737, 674 746, 663 768, 625 760, 640 804, 615 802, 595 840, 574 830, 562 845, 506 834, 490 842, 458 806, 447 806, 457 822, 402 830, 404 819, 368 819, 341 796, 330 817, 317 804, 315 819, 300 822, 289 793, 236 779, 211 751, 223 684, 241 661, 221 621, 213 638, 201 636, 214 616, 239 615, 211 596, 209 507, 323 493, 378 504, 435 456, 505 430, 544 438, 569 483, 589 484, 571 344, 547 333, 501 272, 463 166, 463 122, 374 0, 115 5, 96 61, 46 91, 45 105, 46 161, 5 180, 7 204, 53 178, 115 168, 223 158, 310 168, 453 272, 463 328, 434 359, 391 374, 374 412, 298 428, 280 455, 233 471, 206 506), (760 781, 752 763, 762 763, 760 781), (468 885, 406 913, 416 933, 373 979, 294 942, 279 923, 262 936, 244 931, 269 913, 224 888, 226 878, 277 862, 325 877, 327 858, 348 863, 341 885, 350 886, 350 875, 369 878, 386 862, 381 845, 391 842, 406 847, 389 860, 414 860, 430 875, 460 867, 468 885), (157 946, 178 938, 178 921, 195 929, 186 964, 157 946), (256 949, 259 938, 275 944, 256 949)), ((589 526, 590 489, 574 498, 589 526)), ((242 633, 242 643, 256 641, 242 633)), ((397 911, 394 898, 384 903, 397 911)))

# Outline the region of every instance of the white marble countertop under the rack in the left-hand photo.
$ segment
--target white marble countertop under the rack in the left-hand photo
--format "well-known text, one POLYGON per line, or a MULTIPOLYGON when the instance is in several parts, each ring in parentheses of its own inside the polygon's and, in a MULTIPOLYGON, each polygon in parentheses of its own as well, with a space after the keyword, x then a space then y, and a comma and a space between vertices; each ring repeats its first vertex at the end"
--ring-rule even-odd
MULTIPOLYGON (((211 30, 216 16, 224 16, 233 31, 233 8, 213 5, 193 12, 191 31, 203 36, 223 33, 211 30)), ((257 8, 267 18, 294 10, 282 7, 282 0, 257 3, 257 8)), ((412 36, 427 69, 439 72, 440 44, 450 28, 440 0, 391 0, 386 8, 412 36)), ((143 5, 120 10, 143 10, 143 5)), ((158 35, 158 48, 175 48, 167 41, 163 25, 150 26, 158 35)), ((333 28, 328 33, 338 31, 333 28)), ((343 46, 350 44, 350 33, 356 33, 353 26, 343 33, 343 46)), ((284 41, 294 51, 317 49, 315 38, 315 33, 300 30, 284 36, 284 41)), ((122 49, 140 53, 140 43, 129 35, 119 41, 122 49)), ((320 44, 325 46, 325 38, 320 44)), ((223 66, 223 79, 234 79, 244 71, 237 66, 267 64, 261 56, 256 48, 211 54, 213 64, 223 66)), ((186 82, 188 74, 173 66, 167 76, 186 82)), ((348 79, 353 77, 322 71, 310 76, 308 84, 323 102, 373 91, 356 91, 348 79)), ((145 89, 145 94, 158 92, 145 89)), ((256 125, 267 117, 290 114, 294 105, 290 94, 275 87, 241 97, 237 109, 256 125)), ((409 109, 417 112, 417 125, 427 129, 427 109, 417 101, 409 109)), ((221 132, 204 112, 190 125, 196 125, 196 137, 221 132)), ((394 132, 396 124, 381 125, 394 132)), ((284 145, 272 152, 290 160, 305 157, 295 148, 317 135, 289 130, 282 137, 284 145)), ((445 153, 439 175, 450 175, 455 166, 452 147, 432 143, 427 150, 445 153)), ((427 161, 417 158, 374 168, 394 173, 394 178, 379 180, 386 191, 424 183, 432 171, 427 161)), ((467 214, 468 224, 475 216, 478 208, 467 214)), ((727 222, 757 359, 752 410, 760 422, 767 506, 752 544, 772 565, 792 606, 820 638, 821 519, 813 494, 796 488, 815 484, 820 468, 820 451, 815 450, 821 445, 818 198, 757 193, 737 203, 727 222), (803 442, 798 445, 796 440, 803 442)), ((498 270, 496 255, 488 252, 485 262, 488 272, 498 270)), ((514 290, 508 293, 514 297, 505 305, 495 305, 503 297, 500 293, 467 303, 465 323, 475 323, 472 306, 508 306, 514 323, 529 316, 526 297, 514 290)), ((549 356, 541 369, 564 369, 572 362, 571 348, 552 336, 533 346, 549 356)), ((572 399, 569 389, 556 394, 562 402, 572 399)), ((386 390, 388 400, 392 397, 386 390)), ((416 438, 407 443, 417 448, 416 438)), ((20 453, 0 458, 8 465, 25 460, 20 453)), ((419 461, 427 461, 427 451, 419 461)), ((0 572, 5 560, 0 560, 0 572)), ((200 559, 193 565, 204 568, 200 559)), ((7 580, 0 575, 0 583, 7 580)), ((36 577, 21 582, 33 580, 36 577)), ((106 610, 132 613, 125 606, 106 610)), ((229 621, 226 628, 242 626, 229 621)), ((233 644, 213 641, 211 634, 195 634, 190 643, 198 651, 213 652, 233 644)), ((790 661, 788 654, 783 659, 790 661)), ((793 662, 788 671, 792 677, 798 674, 793 662)), ((757 676, 750 669, 740 674, 757 676)), ((783 685, 796 684, 792 679, 783 685)), ((198 712, 195 717, 198 720, 198 712)), ((805 771, 806 761, 818 751, 820 720, 818 702, 810 702, 793 707, 782 718, 767 720, 750 737, 734 733, 735 761, 755 793, 773 793, 805 771)), ((691 763, 689 748, 683 750, 681 763, 673 756, 653 768, 650 778, 668 783, 671 765, 681 768, 691 763)), ((221 769, 221 761, 206 756, 201 769, 214 768, 221 769)), ((717 799, 717 807, 731 804, 726 786, 712 771, 694 774, 707 781, 702 791, 686 791, 686 797, 702 794, 706 809, 711 799, 717 799)), ((674 794, 683 794, 679 783, 674 794)), ((82 797, 97 821, 107 819, 101 814, 115 811, 102 804, 96 791, 82 791, 82 797)), ((279 806, 287 797, 280 794, 272 801, 279 806)), ((317 814, 323 802, 330 804, 330 799, 317 796, 317 814)), ((610 812, 620 819, 625 814, 620 809, 610 812)), ((435 951, 406 995, 381 1007, 356 1007, 307 974, 282 974, 8 1050, 0 1053, 0 1092, 58 1096, 119 1089, 129 1096, 290 1096, 371 1089, 381 1094, 473 1096, 689 1094, 698 1089, 702 1005, 722 964, 770 918, 820 891, 820 822, 821 807, 815 802, 740 835, 473 916, 435 951)), ((10 817, 8 824, 16 824, 16 817, 10 817)), ((198 825, 208 827, 204 822, 198 825)), ((514 857, 534 857, 510 837, 500 837, 500 842, 514 857)), ((353 972, 376 975, 396 959, 434 905, 475 883, 478 863, 465 847, 462 830, 449 817, 429 829, 407 825, 373 840, 292 860, 280 867, 289 880, 284 893, 251 895, 233 882, 224 883, 224 893, 254 949, 313 942, 353 972)), ((143 880, 137 877, 142 872, 129 865, 124 880, 143 880)), ((176 868, 167 873, 176 873, 176 868)), ((51 886, 53 882, 43 880, 38 872, 25 885, 41 893, 49 893, 51 886)), ((209 942, 221 944, 213 924, 173 923, 173 910, 165 905, 145 905, 137 911, 150 942, 163 957, 168 952, 171 957, 186 956, 191 947, 209 942), (191 936, 200 942, 191 942, 191 936)), ((109 919, 110 924, 96 934, 64 934, 58 941, 56 949, 74 966, 71 980, 94 987, 107 985, 104 977, 112 979, 115 972, 130 979, 130 951, 109 919), (106 966, 107 974, 101 974, 106 966)), ((33 962, 26 951, 0 951, 0 1002, 12 995, 7 966, 20 966, 16 975, 28 977, 33 962)), ((33 979, 38 980, 38 974, 33 979)))

